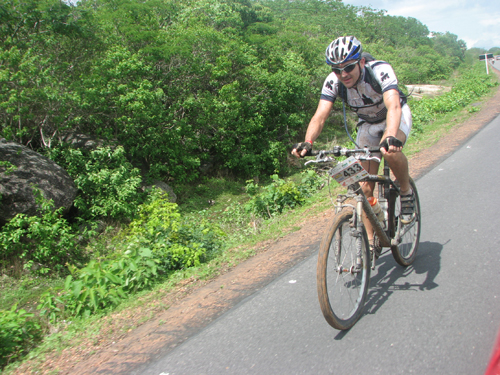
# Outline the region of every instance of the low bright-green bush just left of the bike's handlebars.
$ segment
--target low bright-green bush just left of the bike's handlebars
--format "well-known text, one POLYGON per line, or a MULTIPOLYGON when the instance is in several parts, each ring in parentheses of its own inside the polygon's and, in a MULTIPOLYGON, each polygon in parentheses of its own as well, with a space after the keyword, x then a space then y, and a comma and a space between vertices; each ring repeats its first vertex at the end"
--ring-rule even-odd
POLYGON ((316 172, 310 169, 304 172, 302 181, 298 185, 291 180, 285 181, 276 174, 271 178, 273 182, 265 186, 262 191, 253 180, 247 181, 247 193, 251 196, 245 205, 248 212, 271 218, 285 209, 300 206, 317 190, 320 181, 316 172))

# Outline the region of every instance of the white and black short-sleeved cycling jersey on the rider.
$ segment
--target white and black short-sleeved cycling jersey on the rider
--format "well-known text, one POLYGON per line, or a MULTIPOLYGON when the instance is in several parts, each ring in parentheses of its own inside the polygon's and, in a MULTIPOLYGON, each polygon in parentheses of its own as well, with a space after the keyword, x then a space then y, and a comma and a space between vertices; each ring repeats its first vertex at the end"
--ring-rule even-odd
MULTIPOLYGON (((369 123, 379 123, 384 121, 387 116, 387 108, 384 105, 383 93, 398 89, 398 80, 392 66, 380 60, 367 62, 372 71, 373 76, 363 69, 362 77, 356 87, 347 89, 347 105, 353 109, 360 119, 369 123), (373 88, 375 78, 382 89, 382 93, 378 93, 373 88)), ((339 96, 339 79, 335 73, 330 73, 326 78, 323 89, 321 90, 321 99, 335 102, 339 96)), ((402 104, 406 102, 401 98, 402 104)))

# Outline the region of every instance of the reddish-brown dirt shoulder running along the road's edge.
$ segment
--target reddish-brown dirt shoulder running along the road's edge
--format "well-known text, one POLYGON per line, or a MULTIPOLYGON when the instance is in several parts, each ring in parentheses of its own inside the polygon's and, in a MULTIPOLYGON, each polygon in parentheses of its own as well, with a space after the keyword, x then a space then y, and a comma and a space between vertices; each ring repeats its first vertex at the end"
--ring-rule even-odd
MULTIPOLYGON (((500 76, 497 70, 494 71, 500 76)), ((409 161, 411 175, 414 178, 422 176, 499 114, 500 89, 480 112, 434 146, 414 155, 409 161)), ((51 355, 41 368, 23 365, 16 374, 31 371, 38 374, 127 374, 168 353, 235 304, 313 254, 331 218, 332 210, 325 211, 302 223, 300 230, 278 241, 260 244, 257 255, 209 283, 187 280, 183 287, 166 295, 162 301, 144 305, 136 311, 115 313, 105 318, 100 332, 91 342, 84 341, 77 347, 51 355), (140 322, 150 315, 154 318, 123 333, 124 324, 140 322)))

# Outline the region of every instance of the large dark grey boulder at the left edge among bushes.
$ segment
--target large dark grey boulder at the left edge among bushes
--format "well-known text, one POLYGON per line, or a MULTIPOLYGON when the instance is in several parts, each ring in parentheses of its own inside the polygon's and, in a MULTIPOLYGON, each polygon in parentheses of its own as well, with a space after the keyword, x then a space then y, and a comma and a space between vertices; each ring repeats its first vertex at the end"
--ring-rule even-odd
POLYGON ((0 168, 0 225, 18 213, 37 214, 32 186, 36 185, 55 208, 69 210, 77 189, 72 178, 49 158, 15 142, 0 140, 0 160, 16 166, 11 173, 0 168))

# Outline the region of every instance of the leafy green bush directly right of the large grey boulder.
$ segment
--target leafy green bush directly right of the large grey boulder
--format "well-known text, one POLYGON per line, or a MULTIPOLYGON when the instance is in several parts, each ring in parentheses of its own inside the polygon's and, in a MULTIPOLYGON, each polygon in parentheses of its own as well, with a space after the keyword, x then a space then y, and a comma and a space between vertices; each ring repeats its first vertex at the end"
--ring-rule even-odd
POLYGON ((85 151, 57 147, 49 156, 63 166, 78 188, 74 206, 79 217, 131 219, 143 193, 142 178, 125 157, 123 147, 98 147, 85 151))

